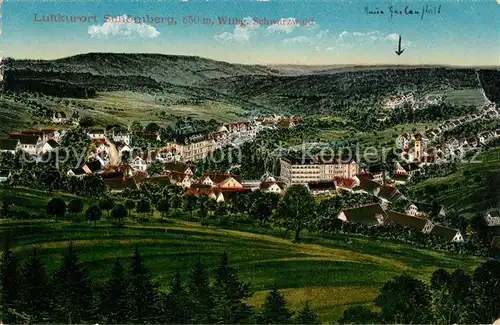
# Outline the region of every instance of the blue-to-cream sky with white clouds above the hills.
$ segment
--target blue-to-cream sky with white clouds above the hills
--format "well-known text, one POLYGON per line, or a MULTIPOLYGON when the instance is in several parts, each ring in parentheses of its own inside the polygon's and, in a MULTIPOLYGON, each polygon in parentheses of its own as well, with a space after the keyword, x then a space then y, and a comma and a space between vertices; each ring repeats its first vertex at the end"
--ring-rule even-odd
POLYGON ((0 54, 19 59, 131 52, 244 64, 500 66, 500 0, 4 0, 0 5, 0 54), (61 17, 76 21, 57 21, 61 17), (404 52, 398 56, 400 35, 404 52))

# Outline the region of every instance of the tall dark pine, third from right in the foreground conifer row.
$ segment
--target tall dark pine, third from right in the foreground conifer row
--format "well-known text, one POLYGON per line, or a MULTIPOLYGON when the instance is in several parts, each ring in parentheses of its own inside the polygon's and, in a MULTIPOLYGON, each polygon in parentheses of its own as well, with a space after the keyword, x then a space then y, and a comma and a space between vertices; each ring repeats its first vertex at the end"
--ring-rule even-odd
POLYGON ((250 284, 241 282, 236 270, 229 266, 224 252, 221 264, 215 269, 214 316, 217 323, 234 324, 249 321, 252 310, 243 300, 252 296, 250 284))

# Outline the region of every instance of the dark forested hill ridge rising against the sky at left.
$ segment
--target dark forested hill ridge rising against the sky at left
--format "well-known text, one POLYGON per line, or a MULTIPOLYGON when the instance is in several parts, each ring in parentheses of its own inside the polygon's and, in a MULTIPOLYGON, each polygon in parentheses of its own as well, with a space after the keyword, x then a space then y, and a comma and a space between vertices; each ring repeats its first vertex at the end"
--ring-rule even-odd
POLYGON ((57 60, 4 61, 5 73, 12 81, 20 78, 45 82, 68 82, 88 87, 104 86, 99 78, 115 88, 144 84, 156 88, 161 83, 192 85, 212 78, 242 75, 275 75, 279 72, 258 65, 230 64, 195 56, 132 53, 87 53, 57 60), (113 80, 114 79, 114 80, 113 80))

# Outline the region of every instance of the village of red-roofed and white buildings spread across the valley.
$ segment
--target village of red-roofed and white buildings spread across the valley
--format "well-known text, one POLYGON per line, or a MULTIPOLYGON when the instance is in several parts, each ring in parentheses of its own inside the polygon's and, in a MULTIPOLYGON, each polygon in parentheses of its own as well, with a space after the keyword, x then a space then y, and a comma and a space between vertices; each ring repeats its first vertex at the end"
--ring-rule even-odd
MULTIPOLYGON (((218 149, 238 147, 252 141, 263 130, 288 129, 303 123, 300 116, 277 115, 259 115, 247 121, 224 123, 215 132, 202 130, 181 134, 162 148, 146 151, 134 148, 132 137, 161 141, 160 134, 90 127, 86 133, 92 144, 86 163, 70 168, 66 173, 77 178, 98 174, 111 193, 138 189, 143 183, 174 184, 188 194, 207 195, 217 202, 227 202, 235 193, 242 191, 260 190, 283 195, 294 184, 305 185, 315 196, 328 197, 348 191, 376 197, 378 203, 343 209, 336 217, 346 223, 367 226, 396 224, 425 234, 438 235, 450 242, 463 242, 464 234, 459 230, 436 222, 446 216, 443 206, 414 202, 406 198, 397 186, 422 172, 424 166, 463 157, 478 146, 499 138, 500 129, 480 132, 476 137, 467 139, 443 138, 444 132, 461 124, 499 115, 500 110, 495 104, 489 104, 483 108, 482 114, 447 120, 437 128, 422 133, 399 135, 395 148, 400 150, 401 159, 394 162, 391 175, 377 164, 362 168, 359 157, 317 155, 314 158, 297 158, 285 153, 280 157, 280 175, 265 173, 260 179, 248 180, 231 173, 205 171, 201 176, 195 176, 196 163, 218 149), (161 174, 150 175, 151 165, 158 163, 162 165, 161 174), (394 204, 403 204, 404 212, 391 210, 394 204)), ((78 122, 58 112, 53 117, 53 123, 78 122)), ((41 159, 61 146, 61 139, 66 132, 64 129, 44 128, 10 133, 8 138, 0 139, 0 151, 15 154, 22 150, 35 159, 41 159)), ((0 181, 8 181, 10 174, 10 171, 1 171, 0 181)), ((492 225, 500 224, 495 211, 485 218, 489 218, 488 222, 492 225)))

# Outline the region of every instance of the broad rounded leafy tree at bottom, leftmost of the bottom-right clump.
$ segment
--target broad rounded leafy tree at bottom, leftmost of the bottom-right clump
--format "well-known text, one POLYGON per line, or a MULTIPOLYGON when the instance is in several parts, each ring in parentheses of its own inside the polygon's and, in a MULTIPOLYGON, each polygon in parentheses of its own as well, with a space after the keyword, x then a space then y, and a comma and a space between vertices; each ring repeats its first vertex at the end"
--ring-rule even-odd
POLYGON ((429 320, 430 292, 423 281, 401 275, 384 284, 375 305, 384 322, 424 324, 429 320))

